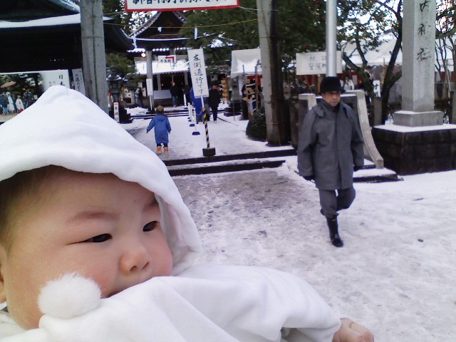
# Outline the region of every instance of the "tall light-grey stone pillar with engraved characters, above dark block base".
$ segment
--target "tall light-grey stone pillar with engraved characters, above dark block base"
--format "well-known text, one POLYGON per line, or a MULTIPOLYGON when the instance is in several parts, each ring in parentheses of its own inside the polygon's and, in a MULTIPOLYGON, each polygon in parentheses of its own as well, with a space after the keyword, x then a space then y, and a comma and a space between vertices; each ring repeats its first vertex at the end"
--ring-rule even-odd
POLYGON ((436 0, 403 2, 402 110, 394 124, 409 127, 442 125, 434 110, 436 0))

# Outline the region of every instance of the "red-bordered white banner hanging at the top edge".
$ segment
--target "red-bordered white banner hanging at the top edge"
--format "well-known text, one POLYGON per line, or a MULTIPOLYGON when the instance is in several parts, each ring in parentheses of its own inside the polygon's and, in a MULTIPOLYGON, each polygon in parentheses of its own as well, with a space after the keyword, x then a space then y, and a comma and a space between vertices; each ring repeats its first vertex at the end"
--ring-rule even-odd
POLYGON ((125 11, 185 11, 239 7, 239 0, 125 0, 125 11))

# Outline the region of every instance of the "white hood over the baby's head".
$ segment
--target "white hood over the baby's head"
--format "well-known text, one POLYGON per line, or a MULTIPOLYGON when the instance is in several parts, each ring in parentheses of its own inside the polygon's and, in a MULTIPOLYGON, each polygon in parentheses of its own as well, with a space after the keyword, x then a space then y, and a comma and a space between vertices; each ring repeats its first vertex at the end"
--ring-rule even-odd
POLYGON ((173 257, 172 274, 201 251, 195 222, 167 168, 95 103, 76 90, 52 86, 29 108, 0 125, 0 181, 18 172, 57 165, 112 173, 155 193, 173 257))

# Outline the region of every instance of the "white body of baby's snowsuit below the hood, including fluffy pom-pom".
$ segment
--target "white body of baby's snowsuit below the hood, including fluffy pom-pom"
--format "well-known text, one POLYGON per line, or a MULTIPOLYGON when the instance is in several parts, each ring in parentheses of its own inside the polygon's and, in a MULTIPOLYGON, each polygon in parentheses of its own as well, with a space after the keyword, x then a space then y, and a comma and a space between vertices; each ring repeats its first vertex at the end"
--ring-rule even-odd
POLYGON ((274 269, 193 266, 108 299, 99 298, 93 281, 81 279, 46 285, 39 328, 1 342, 304 342, 304 336, 331 342, 340 326, 309 284, 274 269), (282 328, 290 328, 290 339, 282 328))

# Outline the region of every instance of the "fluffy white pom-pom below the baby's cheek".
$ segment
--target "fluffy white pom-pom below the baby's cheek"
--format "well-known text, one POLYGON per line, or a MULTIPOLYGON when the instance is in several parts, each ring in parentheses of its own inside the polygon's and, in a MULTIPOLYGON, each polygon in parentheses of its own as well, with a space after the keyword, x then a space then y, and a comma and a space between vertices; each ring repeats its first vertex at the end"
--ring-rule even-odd
POLYGON ((71 318, 100 305, 101 291, 95 281, 72 273, 49 281, 38 296, 38 307, 43 314, 71 318))

